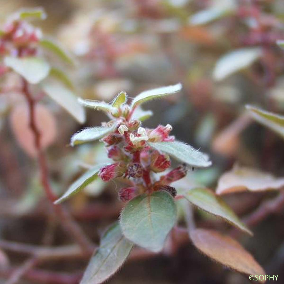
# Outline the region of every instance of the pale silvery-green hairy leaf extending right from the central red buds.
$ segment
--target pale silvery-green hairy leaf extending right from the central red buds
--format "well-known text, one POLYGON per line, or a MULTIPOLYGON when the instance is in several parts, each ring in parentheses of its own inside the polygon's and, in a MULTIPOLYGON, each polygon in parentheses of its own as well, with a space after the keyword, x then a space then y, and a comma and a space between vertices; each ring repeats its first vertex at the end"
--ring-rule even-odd
POLYGON ((209 167, 212 164, 212 162, 209 161, 207 154, 204 154, 199 150, 194 149, 190 145, 180 141, 155 143, 148 142, 148 144, 152 148, 167 153, 178 161, 193 167, 204 168, 209 167))

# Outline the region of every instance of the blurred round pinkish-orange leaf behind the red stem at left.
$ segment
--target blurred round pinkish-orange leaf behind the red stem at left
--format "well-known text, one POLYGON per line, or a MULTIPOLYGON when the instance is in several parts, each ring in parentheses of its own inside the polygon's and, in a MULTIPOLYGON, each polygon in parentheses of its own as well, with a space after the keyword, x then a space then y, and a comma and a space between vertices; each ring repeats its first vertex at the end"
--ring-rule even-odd
MULTIPOLYGON (((56 137, 56 121, 53 114, 44 105, 35 107, 35 122, 41 133, 40 146, 44 150, 56 137)), ((20 147, 31 157, 37 156, 34 133, 30 128, 30 112, 26 104, 16 105, 10 116, 13 133, 20 147)))

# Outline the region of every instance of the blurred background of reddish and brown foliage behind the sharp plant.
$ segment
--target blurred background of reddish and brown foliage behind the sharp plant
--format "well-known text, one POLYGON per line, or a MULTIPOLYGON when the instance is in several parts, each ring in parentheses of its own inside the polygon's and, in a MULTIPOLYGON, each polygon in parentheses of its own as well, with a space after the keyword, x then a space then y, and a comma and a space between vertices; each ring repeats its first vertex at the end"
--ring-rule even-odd
MULTIPOLYGON (((76 68, 68 67, 66 73, 80 97, 108 102, 121 90, 134 97, 146 89, 181 82, 181 93, 145 106, 154 115, 143 124, 170 123, 178 139, 210 154, 213 166, 192 172, 192 183, 215 190, 222 173, 236 163, 277 177, 284 175, 282 137, 254 122, 245 111, 250 104, 284 112, 284 51, 276 44, 284 39, 282 0, 1 0, 0 4, 1 20, 19 8, 45 9, 47 19, 34 23, 76 56, 76 68), (239 51, 232 55, 235 50, 239 51)), ((47 204, 37 165, 14 139, 9 112, 19 100, 17 93, 0 96, 1 238, 66 244, 70 240, 57 228, 54 216, 44 214, 47 204)), ((99 145, 68 147, 70 136, 82 125, 56 104, 43 101, 56 119, 57 134, 47 153, 53 187, 60 194, 85 165, 105 156, 99 145)), ((100 125, 104 120, 103 114, 88 110, 84 126, 100 125)), ((116 184, 103 187, 95 183, 68 201, 72 215, 94 241, 99 241, 120 212, 116 189, 116 184)), ((277 191, 243 191, 225 199, 239 216, 246 216, 276 195, 277 191)), ((283 207, 274 213, 255 224, 254 237, 237 237, 266 273, 279 274, 281 282, 283 207)), ((196 215, 204 227, 228 229, 218 219, 199 211, 196 215)), ((13 253, 9 259, 14 264, 23 260, 13 253)), ((80 272, 85 265, 83 260, 74 260, 45 264, 45 268, 80 272)), ((188 243, 174 255, 128 261, 109 283, 249 281, 209 261, 188 243)))

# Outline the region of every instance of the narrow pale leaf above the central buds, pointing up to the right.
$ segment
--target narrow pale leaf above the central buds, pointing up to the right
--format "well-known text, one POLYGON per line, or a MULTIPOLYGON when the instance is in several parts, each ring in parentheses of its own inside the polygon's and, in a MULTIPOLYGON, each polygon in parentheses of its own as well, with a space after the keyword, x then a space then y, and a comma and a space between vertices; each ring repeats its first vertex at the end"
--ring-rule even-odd
POLYGON ((144 91, 144 92, 140 93, 139 95, 137 95, 137 97, 135 97, 133 99, 131 107, 134 108, 137 105, 140 105, 140 104, 145 103, 147 101, 159 99, 159 98, 165 97, 167 95, 177 93, 178 91, 181 90, 181 88, 182 88, 181 83, 178 83, 178 84, 172 85, 172 86, 160 87, 160 88, 144 91))

